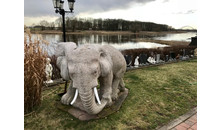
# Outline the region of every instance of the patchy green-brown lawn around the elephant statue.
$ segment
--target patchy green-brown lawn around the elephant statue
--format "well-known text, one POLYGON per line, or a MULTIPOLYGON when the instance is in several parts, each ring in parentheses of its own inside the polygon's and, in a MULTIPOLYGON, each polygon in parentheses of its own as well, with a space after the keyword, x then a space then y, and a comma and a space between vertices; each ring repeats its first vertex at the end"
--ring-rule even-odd
POLYGON ((79 121, 54 103, 64 84, 42 92, 42 104, 24 117, 24 129, 153 130, 197 106, 197 59, 125 73, 128 97, 107 119, 79 121))

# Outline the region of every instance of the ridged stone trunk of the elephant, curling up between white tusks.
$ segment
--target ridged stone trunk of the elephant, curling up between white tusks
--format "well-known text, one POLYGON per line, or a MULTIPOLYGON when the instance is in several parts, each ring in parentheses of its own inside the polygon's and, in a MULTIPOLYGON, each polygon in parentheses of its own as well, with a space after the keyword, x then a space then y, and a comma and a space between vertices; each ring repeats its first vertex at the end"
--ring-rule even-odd
POLYGON ((88 92, 79 92, 83 107, 89 114, 98 114, 107 104, 107 100, 102 99, 101 104, 95 101, 93 89, 88 92))

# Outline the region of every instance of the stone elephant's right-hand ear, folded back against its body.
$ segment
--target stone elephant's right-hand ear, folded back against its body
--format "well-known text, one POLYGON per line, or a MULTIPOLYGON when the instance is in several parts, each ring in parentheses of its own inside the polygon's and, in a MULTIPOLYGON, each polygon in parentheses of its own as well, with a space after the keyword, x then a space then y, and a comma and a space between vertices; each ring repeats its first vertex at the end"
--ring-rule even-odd
POLYGON ((112 59, 110 54, 103 47, 100 48, 99 52, 101 76, 106 76, 112 70, 112 59))

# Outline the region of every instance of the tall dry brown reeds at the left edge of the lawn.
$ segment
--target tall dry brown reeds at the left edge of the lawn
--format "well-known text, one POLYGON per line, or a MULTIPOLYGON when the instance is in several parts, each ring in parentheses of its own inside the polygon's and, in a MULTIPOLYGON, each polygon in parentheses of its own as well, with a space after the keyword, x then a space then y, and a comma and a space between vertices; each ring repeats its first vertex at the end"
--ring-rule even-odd
POLYGON ((24 113, 30 112, 41 103, 41 91, 45 77, 47 52, 42 44, 49 42, 42 37, 31 40, 31 33, 26 29, 24 35, 24 113))

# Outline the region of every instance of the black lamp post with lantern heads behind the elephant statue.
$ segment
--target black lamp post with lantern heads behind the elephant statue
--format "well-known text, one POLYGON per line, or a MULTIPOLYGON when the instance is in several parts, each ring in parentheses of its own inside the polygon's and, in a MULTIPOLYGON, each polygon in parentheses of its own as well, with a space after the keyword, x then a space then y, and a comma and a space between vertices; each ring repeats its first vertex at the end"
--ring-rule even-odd
MULTIPOLYGON (((62 1, 62 0, 52 0, 52 2, 53 2, 54 8, 56 9, 55 13, 59 13, 60 15, 62 15, 62 18, 63 18, 63 41, 66 42, 65 13, 73 13, 75 0, 68 0, 68 5, 69 5, 70 11, 65 11, 63 9, 64 1, 62 1)), ((66 93, 66 87, 67 87, 67 81, 65 82, 64 92, 60 93, 59 95, 63 95, 63 94, 66 93)))

